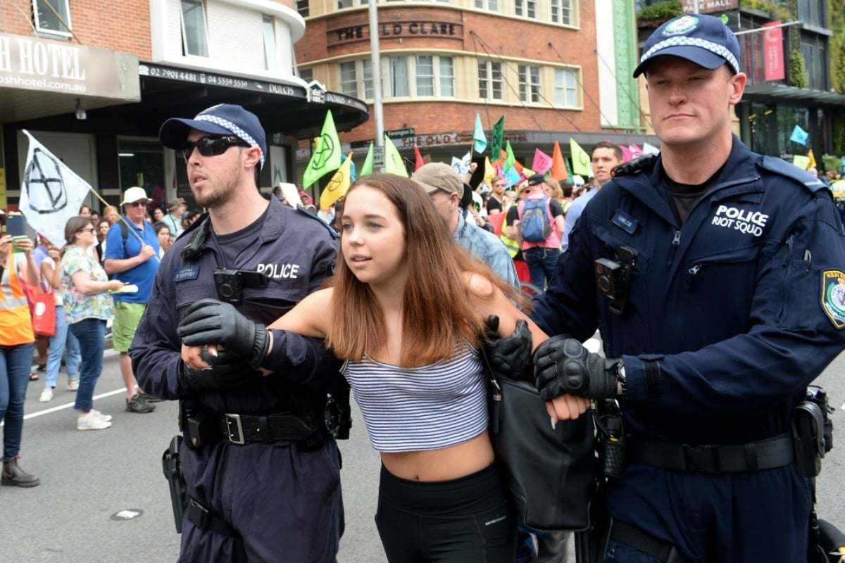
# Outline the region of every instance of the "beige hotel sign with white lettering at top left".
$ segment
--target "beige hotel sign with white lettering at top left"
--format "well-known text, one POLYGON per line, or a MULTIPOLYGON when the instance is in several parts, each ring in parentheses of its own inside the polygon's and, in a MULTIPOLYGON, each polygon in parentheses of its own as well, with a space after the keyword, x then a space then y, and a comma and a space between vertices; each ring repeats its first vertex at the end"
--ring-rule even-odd
POLYGON ((0 33, 0 88, 3 87, 141 99, 136 55, 0 33))

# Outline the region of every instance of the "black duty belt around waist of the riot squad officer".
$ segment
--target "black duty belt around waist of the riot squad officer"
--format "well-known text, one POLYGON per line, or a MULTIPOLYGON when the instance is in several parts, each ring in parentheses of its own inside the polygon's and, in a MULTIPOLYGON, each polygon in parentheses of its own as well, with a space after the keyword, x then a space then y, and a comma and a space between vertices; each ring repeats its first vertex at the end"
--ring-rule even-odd
POLYGON ((630 436, 626 446, 630 452, 630 463, 675 471, 742 473, 779 468, 795 462, 793 440, 789 434, 728 446, 670 444, 630 436))

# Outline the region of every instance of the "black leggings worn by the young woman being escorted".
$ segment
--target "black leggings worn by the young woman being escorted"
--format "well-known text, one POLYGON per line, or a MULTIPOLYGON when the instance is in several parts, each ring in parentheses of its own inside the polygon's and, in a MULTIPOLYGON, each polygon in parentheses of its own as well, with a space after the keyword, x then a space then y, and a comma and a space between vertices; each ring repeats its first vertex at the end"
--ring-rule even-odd
POLYGON ((516 515, 495 464, 460 479, 421 483, 382 466, 375 515, 391 563, 513 563, 516 515))

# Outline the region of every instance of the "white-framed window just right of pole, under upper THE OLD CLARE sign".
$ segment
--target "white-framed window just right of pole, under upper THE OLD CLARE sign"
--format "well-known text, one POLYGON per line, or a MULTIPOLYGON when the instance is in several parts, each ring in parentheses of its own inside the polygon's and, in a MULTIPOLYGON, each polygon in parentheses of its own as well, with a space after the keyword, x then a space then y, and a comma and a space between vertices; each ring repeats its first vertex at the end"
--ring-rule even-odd
POLYGON ((388 57, 391 98, 455 97, 455 60, 452 57, 417 55, 388 57))

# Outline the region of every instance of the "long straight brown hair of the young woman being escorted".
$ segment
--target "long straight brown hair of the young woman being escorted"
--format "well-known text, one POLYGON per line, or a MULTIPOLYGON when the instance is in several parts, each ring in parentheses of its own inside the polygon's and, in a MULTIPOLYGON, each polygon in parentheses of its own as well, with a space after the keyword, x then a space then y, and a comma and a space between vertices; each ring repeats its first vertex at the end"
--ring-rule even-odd
MULTIPOLYGON (((408 282, 402 303, 401 366, 449 359, 461 339, 473 347, 481 343, 487 319, 474 310, 467 295, 466 273, 488 279, 511 301, 527 305, 524 295, 452 240, 417 182, 393 174, 363 176, 346 193, 347 203, 362 186, 384 193, 395 205, 405 230, 408 282)), ((384 312, 368 284, 358 281, 346 266, 342 244, 332 285, 333 317, 326 344, 339 358, 353 361, 382 349, 387 341, 384 312)), ((493 291, 477 295, 492 296, 493 291)))

